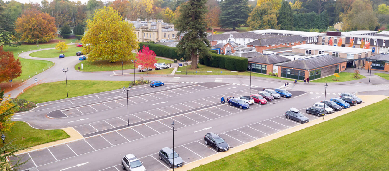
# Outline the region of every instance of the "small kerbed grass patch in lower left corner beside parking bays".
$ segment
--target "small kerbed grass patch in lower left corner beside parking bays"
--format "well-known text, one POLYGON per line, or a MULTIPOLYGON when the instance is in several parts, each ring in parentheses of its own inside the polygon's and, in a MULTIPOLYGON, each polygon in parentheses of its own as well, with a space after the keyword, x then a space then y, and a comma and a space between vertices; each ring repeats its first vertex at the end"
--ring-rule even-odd
POLYGON ((14 143, 25 148, 70 137, 64 130, 35 129, 25 122, 14 122, 11 132, 5 132, 5 136, 7 137, 5 141, 9 142, 16 138, 14 143))

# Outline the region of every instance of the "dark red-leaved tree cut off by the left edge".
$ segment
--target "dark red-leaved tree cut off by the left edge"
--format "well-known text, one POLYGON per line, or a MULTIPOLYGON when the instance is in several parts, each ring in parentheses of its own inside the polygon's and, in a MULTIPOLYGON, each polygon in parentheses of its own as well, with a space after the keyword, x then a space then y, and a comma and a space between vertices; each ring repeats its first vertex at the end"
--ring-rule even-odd
POLYGON ((10 51, 3 51, 0 46, 0 83, 18 78, 22 73, 19 59, 10 51))

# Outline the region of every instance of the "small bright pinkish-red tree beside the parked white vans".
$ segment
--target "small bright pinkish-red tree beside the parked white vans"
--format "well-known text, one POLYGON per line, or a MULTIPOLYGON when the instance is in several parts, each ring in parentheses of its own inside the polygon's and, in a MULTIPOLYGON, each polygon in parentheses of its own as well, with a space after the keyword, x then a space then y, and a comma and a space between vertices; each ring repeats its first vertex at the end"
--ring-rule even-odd
POLYGON ((147 74, 149 74, 149 69, 154 67, 154 63, 157 63, 157 59, 155 58, 157 56, 154 51, 150 50, 148 46, 144 46, 143 48, 138 51, 137 58, 138 63, 142 65, 142 69, 147 68, 147 74))

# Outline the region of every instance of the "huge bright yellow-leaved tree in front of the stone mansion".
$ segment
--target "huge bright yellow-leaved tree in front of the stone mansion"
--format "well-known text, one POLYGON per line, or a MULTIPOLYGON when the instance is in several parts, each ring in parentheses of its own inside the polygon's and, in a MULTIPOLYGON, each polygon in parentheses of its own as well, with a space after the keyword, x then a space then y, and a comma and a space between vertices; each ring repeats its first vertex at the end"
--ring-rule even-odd
POLYGON ((82 52, 88 60, 133 60, 132 50, 138 49, 134 26, 112 7, 96 9, 93 19, 86 21, 86 32, 82 37, 85 44, 82 52))

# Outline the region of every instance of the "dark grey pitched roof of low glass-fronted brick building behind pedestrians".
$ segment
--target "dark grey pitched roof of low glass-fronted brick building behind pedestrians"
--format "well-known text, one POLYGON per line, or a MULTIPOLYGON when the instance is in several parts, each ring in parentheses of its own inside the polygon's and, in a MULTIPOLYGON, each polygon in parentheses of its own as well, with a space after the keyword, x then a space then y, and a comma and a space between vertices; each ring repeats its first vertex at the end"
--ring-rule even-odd
POLYGON ((336 63, 347 61, 346 59, 338 58, 328 53, 322 53, 320 55, 312 55, 307 57, 301 57, 291 62, 284 62, 277 64, 281 67, 290 67, 295 69, 312 70, 336 63), (305 58, 305 59, 304 59, 305 58))

